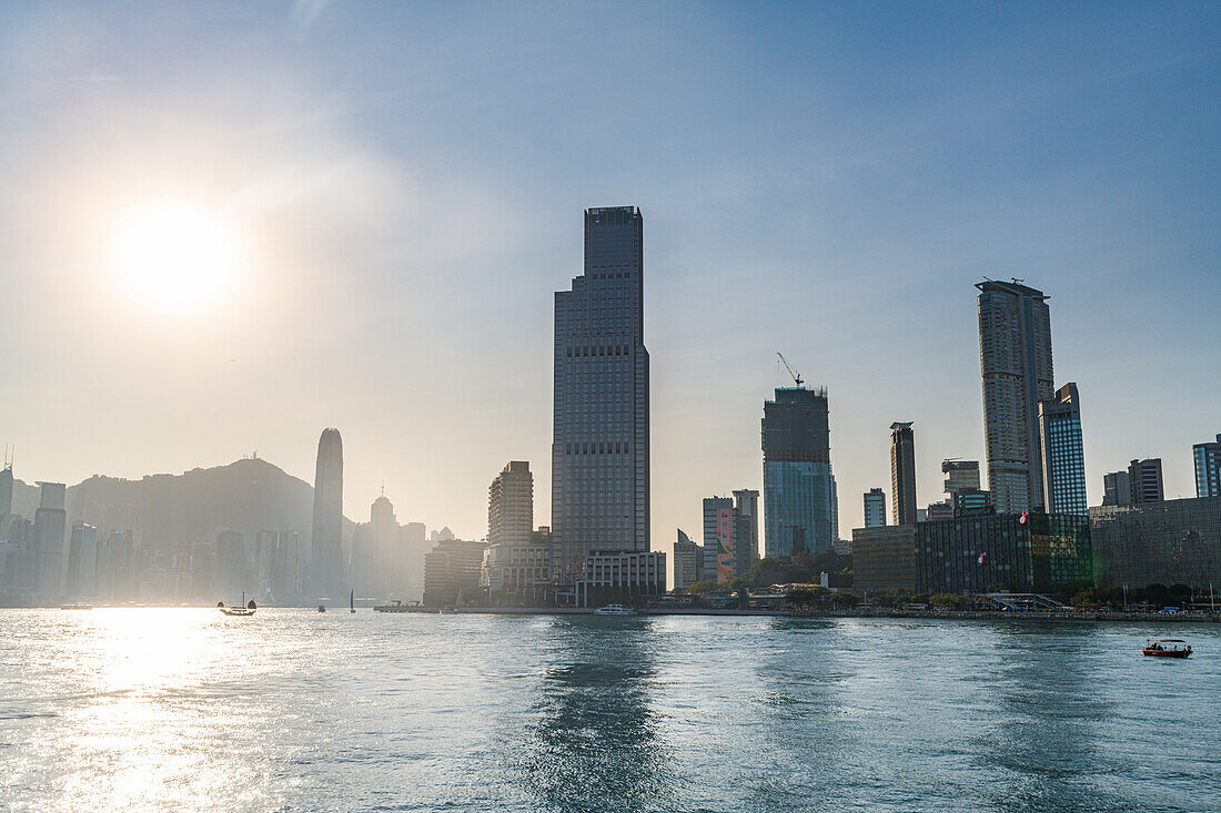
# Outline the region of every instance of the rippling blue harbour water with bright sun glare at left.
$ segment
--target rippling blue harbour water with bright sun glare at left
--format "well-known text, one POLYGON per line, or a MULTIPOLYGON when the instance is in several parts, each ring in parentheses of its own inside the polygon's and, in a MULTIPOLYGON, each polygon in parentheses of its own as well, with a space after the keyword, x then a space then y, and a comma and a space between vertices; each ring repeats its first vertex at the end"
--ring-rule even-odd
POLYGON ((0 809, 1216 811, 1219 690, 1208 624, 0 610, 0 809))

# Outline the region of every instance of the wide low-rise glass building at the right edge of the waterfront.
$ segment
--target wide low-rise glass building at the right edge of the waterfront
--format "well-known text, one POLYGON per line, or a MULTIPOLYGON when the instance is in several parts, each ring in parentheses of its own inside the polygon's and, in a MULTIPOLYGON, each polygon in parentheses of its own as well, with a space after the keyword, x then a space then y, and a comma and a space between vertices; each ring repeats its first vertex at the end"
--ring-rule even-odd
POLYGON ((1221 497, 1101 505, 1089 522, 1106 587, 1221 587, 1221 497))

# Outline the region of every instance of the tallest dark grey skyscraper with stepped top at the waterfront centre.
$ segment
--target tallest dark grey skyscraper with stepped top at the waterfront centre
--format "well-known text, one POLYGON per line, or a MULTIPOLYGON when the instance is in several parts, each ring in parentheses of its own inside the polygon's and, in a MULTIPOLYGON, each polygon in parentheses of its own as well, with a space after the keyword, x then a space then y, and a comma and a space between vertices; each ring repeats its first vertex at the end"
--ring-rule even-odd
POLYGON ((585 211, 585 272, 556 293, 552 557, 574 585, 596 551, 647 552, 643 220, 585 211))

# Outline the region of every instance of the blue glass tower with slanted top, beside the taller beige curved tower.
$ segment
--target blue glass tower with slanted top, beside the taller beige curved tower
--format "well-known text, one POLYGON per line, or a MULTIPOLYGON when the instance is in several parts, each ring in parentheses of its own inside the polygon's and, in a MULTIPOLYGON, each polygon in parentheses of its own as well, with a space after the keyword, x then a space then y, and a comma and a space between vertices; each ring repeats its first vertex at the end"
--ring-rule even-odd
POLYGON ((1088 516, 1077 385, 1067 383, 1056 391, 1054 398, 1039 402, 1039 446, 1043 455, 1043 509, 1048 514, 1088 516))

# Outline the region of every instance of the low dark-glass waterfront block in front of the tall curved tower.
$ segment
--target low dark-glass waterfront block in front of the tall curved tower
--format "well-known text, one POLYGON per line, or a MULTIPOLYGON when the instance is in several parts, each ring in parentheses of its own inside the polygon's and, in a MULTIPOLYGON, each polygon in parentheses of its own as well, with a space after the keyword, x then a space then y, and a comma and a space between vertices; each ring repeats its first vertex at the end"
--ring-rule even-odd
POLYGON ((922 593, 1048 593, 1093 584, 1089 520, 993 514, 916 526, 922 593))

